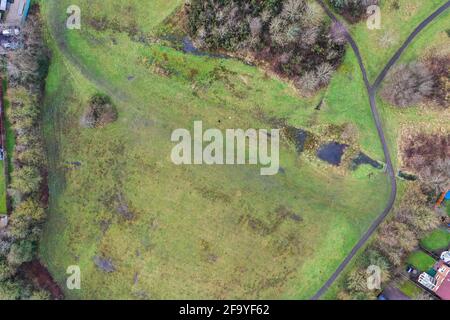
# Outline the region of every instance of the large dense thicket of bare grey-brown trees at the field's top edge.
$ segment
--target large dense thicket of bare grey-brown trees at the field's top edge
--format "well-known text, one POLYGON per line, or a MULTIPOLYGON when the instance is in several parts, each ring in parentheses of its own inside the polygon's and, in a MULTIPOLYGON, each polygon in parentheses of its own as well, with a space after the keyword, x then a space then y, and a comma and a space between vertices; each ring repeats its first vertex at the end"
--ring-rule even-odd
POLYGON ((198 45, 249 54, 304 93, 327 85, 344 54, 315 2, 194 0, 188 15, 198 45))

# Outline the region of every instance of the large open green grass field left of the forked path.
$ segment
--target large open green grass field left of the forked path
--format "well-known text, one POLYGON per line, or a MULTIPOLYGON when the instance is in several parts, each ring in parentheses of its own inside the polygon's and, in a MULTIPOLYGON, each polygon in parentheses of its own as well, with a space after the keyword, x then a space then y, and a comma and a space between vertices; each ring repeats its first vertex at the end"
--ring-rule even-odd
MULTIPOLYGON (((53 49, 44 112, 51 197, 41 258, 63 288, 66 268, 81 267, 82 289, 66 290, 69 298, 309 298, 383 209, 386 177, 299 158, 286 141, 285 173, 273 177, 255 166, 177 167, 170 134, 194 120, 246 129, 286 119, 316 133, 352 123, 354 147, 383 160, 355 57, 349 50, 330 87, 304 99, 237 60, 144 45, 88 23, 104 15, 152 33, 181 2, 41 2, 53 49), (82 9, 79 31, 61 27, 70 4, 82 9), (155 73, 149 60, 174 74, 155 73), (97 92, 111 96, 119 120, 83 129, 79 119, 97 92), (326 104, 316 112, 322 96, 326 104), (75 161, 81 165, 69 165, 75 161), (120 215, 123 203, 132 219, 120 215), (281 206, 302 221, 278 219, 281 206), (110 258, 116 271, 100 271, 95 256, 110 258)), ((391 115, 403 117, 384 114, 391 115)), ((393 145, 399 122, 389 124, 393 145)))

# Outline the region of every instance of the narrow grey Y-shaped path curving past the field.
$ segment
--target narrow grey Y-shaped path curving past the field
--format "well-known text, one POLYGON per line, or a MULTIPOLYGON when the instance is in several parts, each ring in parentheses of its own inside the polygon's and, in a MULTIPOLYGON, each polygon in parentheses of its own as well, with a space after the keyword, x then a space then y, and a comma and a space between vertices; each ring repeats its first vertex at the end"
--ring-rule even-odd
POLYGON ((377 90, 380 88, 381 83, 386 78, 389 70, 395 65, 395 63, 398 61, 402 53, 408 48, 408 46, 411 44, 411 42, 414 40, 414 38, 425 28, 427 27, 434 19, 436 19, 441 13, 443 13, 445 10, 447 10, 450 7, 450 0, 447 1, 444 5, 442 5, 439 9, 437 9, 433 14, 431 14, 427 19, 425 19, 417 28, 410 34, 408 39, 403 43, 403 45, 400 47, 400 49, 395 53, 395 55, 392 57, 392 59, 388 62, 386 67, 383 69, 383 71, 380 73, 380 75, 375 80, 375 83, 373 85, 370 84, 369 79, 367 77, 367 71, 364 66, 364 63, 362 61, 361 53, 359 51, 358 45, 353 40, 352 36, 348 32, 347 28, 336 18, 336 16, 331 12, 331 10, 325 5, 323 0, 317 0, 317 2, 320 4, 320 6, 323 8, 323 10, 326 12, 326 14, 330 17, 333 22, 337 23, 340 28, 342 28, 342 31, 345 34, 345 38, 350 43, 350 46, 352 47, 353 51, 355 52, 355 55, 358 59, 359 67, 361 69, 364 83, 366 85, 367 92, 369 94, 369 102, 370 102, 370 109, 372 111, 372 116, 375 121, 375 125, 377 127, 378 136, 380 138, 381 144, 383 146, 383 152, 384 157, 386 161, 386 169, 387 173, 389 175, 390 183, 391 183, 391 193, 389 196, 389 200, 386 204, 385 209, 383 212, 375 219, 375 221, 372 223, 372 225, 369 227, 369 229, 364 233, 364 235, 361 237, 361 239, 358 241, 358 243, 353 247, 353 249, 350 251, 350 253, 345 257, 344 261, 341 262, 341 264, 338 266, 336 271, 331 275, 331 277, 327 280, 327 282, 322 286, 322 288, 317 291, 317 293, 311 298, 312 300, 318 300, 320 297, 328 290, 328 288, 336 281, 336 279, 339 277, 339 275, 342 273, 342 271, 345 269, 345 267, 349 264, 349 262, 353 259, 353 257, 356 255, 356 253, 361 249, 366 242, 370 239, 370 237, 373 235, 373 233, 376 231, 376 229, 380 226, 380 224, 384 221, 384 219, 387 217, 389 212, 391 211, 392 207, 395 203, 395 198, 397 196, 397 181, 395 178, 395 172, 394 167, 392 165, 392 158, 391 154, 389 152, 389 148, 386 142, 386 137, 383 131, 383 124, 381 122, 381 118, 377 109, 377 103, 376 103, 376 93, 377 90))

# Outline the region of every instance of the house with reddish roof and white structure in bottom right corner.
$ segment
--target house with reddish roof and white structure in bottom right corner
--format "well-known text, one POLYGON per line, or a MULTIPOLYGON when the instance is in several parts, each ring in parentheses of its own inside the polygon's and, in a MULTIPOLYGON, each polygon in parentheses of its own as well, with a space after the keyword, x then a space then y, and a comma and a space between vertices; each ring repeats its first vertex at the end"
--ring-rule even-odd
POLYGON ((434 276, 423 272, 419 283, 433 291, 442 300, 450 300, 450 267, 444 261, 439 261, 434 267, 434 276))

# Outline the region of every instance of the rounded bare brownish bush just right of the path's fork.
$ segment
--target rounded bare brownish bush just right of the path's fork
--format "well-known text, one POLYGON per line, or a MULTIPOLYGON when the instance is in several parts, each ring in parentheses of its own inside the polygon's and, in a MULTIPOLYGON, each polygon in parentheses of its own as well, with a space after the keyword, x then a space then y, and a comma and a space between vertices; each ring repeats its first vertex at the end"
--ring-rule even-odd
POLYGON ((430 97, 434 86, 434 77, 425 65, 400 65, 388 75, 381 96, 390 104, 405 108, 430 97))

